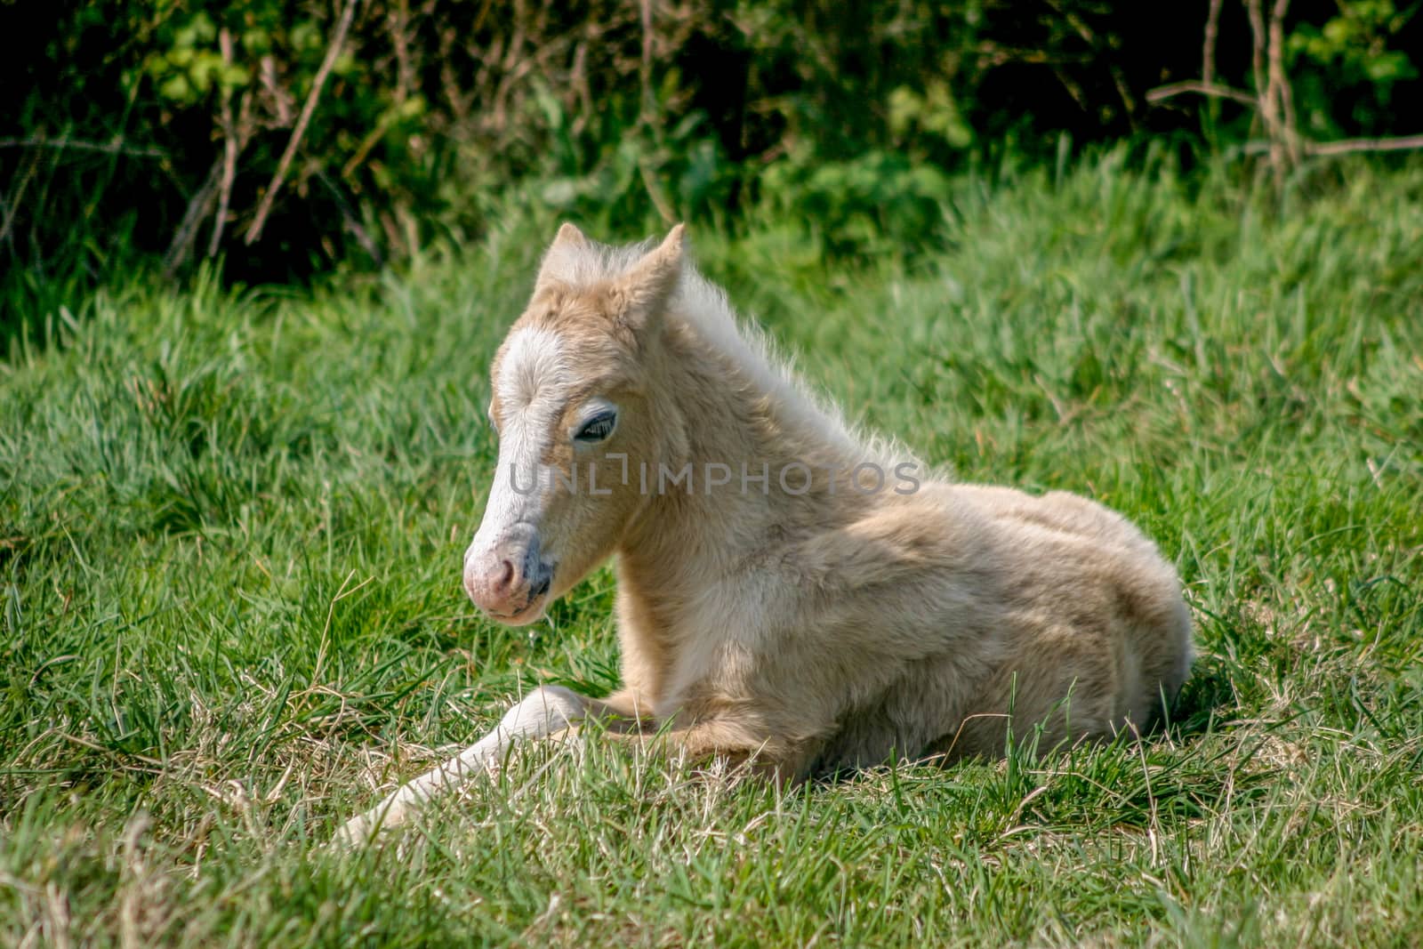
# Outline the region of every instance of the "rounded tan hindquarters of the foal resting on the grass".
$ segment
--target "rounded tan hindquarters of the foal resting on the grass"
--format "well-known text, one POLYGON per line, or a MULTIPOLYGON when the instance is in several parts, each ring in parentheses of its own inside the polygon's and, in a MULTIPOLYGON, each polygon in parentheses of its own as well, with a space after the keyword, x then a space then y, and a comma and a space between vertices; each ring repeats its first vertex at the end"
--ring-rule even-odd
POLYGON ((1012 711, 1054 744, 1144 730, 1191 664, 1191 619, 1175 571, 1121 515, 1087 498, 956 487, 993 529, 1005 583, 1003 662, 969 703, 955 754, 1000 753, 1012 711))

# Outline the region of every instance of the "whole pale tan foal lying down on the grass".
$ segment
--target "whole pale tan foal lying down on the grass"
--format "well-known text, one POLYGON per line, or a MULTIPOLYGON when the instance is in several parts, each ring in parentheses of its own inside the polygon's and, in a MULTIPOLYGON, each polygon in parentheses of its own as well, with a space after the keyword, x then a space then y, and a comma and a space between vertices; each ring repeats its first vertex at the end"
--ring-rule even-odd
POLYGON ((344 841, 578 721, 783 778, 1147 726, 1191 664, 1175 572, 1070 494, 949 484, 865 442, 684 262, 564 225, 494 359, 499 460, 464 585, 522 625, 616 555, 623 687, 542 687, 344 841), (650 736, 656 736, 650 738, 650 736))

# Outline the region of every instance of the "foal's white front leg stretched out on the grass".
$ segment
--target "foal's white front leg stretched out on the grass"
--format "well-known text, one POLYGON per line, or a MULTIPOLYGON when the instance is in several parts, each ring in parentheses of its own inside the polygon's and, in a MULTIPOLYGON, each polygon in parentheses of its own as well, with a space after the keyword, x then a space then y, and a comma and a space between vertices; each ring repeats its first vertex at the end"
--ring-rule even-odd
POLYGON ((406 824, 421 807, 460 788, 497 764, 515 741, 544 738, 612 709, 561 686, 541 686, 505 713, 490 734, 438 768, 421 774, 336 832, 337 847, 354 847, 379 831, 406 824))

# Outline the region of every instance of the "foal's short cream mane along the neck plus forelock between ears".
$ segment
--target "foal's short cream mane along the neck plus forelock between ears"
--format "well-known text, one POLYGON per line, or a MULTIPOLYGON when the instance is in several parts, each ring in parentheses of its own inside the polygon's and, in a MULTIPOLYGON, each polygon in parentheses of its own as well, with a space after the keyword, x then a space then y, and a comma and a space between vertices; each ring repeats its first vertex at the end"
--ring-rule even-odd
MULTIPOLYGON (((573 287, 588 287, 623 275, 656 240, 613 246, 596 240, 558 242, 544 258, 544 272, 573 287)), ((850 425, 840 408, 810 388, 766 333, 737 319, 726 292, 707 280, 690 260, 667 306, 667 319, 680 320, 710 350, 736 366, 748 387, 764 394, 778 415, 795 428, 814 431, 835 450, 858 460, 912 460, 902 445, 887 442, 850 425)))

